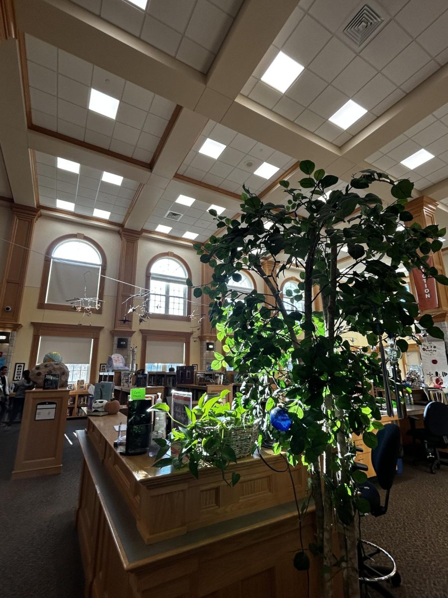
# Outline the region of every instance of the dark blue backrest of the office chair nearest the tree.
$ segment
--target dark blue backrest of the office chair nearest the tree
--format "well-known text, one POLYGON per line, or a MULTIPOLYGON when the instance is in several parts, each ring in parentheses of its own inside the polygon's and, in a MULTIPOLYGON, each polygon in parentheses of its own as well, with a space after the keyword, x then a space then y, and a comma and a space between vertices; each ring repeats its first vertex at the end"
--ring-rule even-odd
POLYGON ((397 470, 400 451, 400 428, 388 423, 378 431, 378 446, 372 450, 372 465, 379 485, 383 490, 390 490, 397 470))

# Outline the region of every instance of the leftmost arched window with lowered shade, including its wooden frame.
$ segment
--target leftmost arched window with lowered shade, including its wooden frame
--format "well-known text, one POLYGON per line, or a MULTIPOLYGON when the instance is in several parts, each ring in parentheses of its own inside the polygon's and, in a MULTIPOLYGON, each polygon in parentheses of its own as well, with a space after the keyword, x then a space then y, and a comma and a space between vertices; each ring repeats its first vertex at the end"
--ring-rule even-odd
MULTIPOLYGON (((93 239, 75 234, 59 237, 45 255, 38 307, 72 310, 70 300, 102 300, 105 273, 105 254, 93 239)), ((95 310, 101 312, 101 307, 95 310)))

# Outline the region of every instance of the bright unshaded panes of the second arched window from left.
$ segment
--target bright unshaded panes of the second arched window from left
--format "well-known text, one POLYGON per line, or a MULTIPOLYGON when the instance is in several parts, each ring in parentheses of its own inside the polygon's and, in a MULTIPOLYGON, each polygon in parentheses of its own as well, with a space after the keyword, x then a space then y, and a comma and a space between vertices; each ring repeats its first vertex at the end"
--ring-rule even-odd
POLYGON ((188 271, 176 257, 164 256, 149 265, 149 313, 187 316, 188 271))

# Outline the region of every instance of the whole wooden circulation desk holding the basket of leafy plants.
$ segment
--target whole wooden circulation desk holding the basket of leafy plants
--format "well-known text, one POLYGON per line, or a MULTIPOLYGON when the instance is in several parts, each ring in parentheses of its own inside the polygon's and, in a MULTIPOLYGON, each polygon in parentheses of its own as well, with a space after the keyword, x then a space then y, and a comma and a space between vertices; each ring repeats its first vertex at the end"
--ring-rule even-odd
MULTIPOLYGON (((247 457, 230 467, 234 487, 216 469, 199 480, 186 471, 152 467, 146 455, 116 453, 120 414, 88 419, 79 431, 84 454, 76 513, 86 598, 275 598, 305 596, 306 575, 293 567, 300 540, 287 472, 247 457)), ((281 456, 266 454, 284 470, 281 456)), ((306 470, 293 478, 304 496, 306 470)), ((314 509, 303 520, 303 543, 314 541, 314 509)), ((319 572, 310 570, 310 596, 319 572)), ((341 598, 335 582, 335 598, 341 598)))

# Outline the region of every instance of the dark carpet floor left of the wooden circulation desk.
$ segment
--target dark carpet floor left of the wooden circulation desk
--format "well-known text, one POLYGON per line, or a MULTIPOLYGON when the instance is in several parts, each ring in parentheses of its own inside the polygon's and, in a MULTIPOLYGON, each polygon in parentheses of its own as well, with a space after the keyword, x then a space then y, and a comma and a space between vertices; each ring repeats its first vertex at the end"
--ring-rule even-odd
POLYGON ((84 420, 68 420, 60 475, 11 480, 19 424, 0 428, 0 596, 81 598, 81 554, 75 507, 81 449, 73 432, 84 420))

